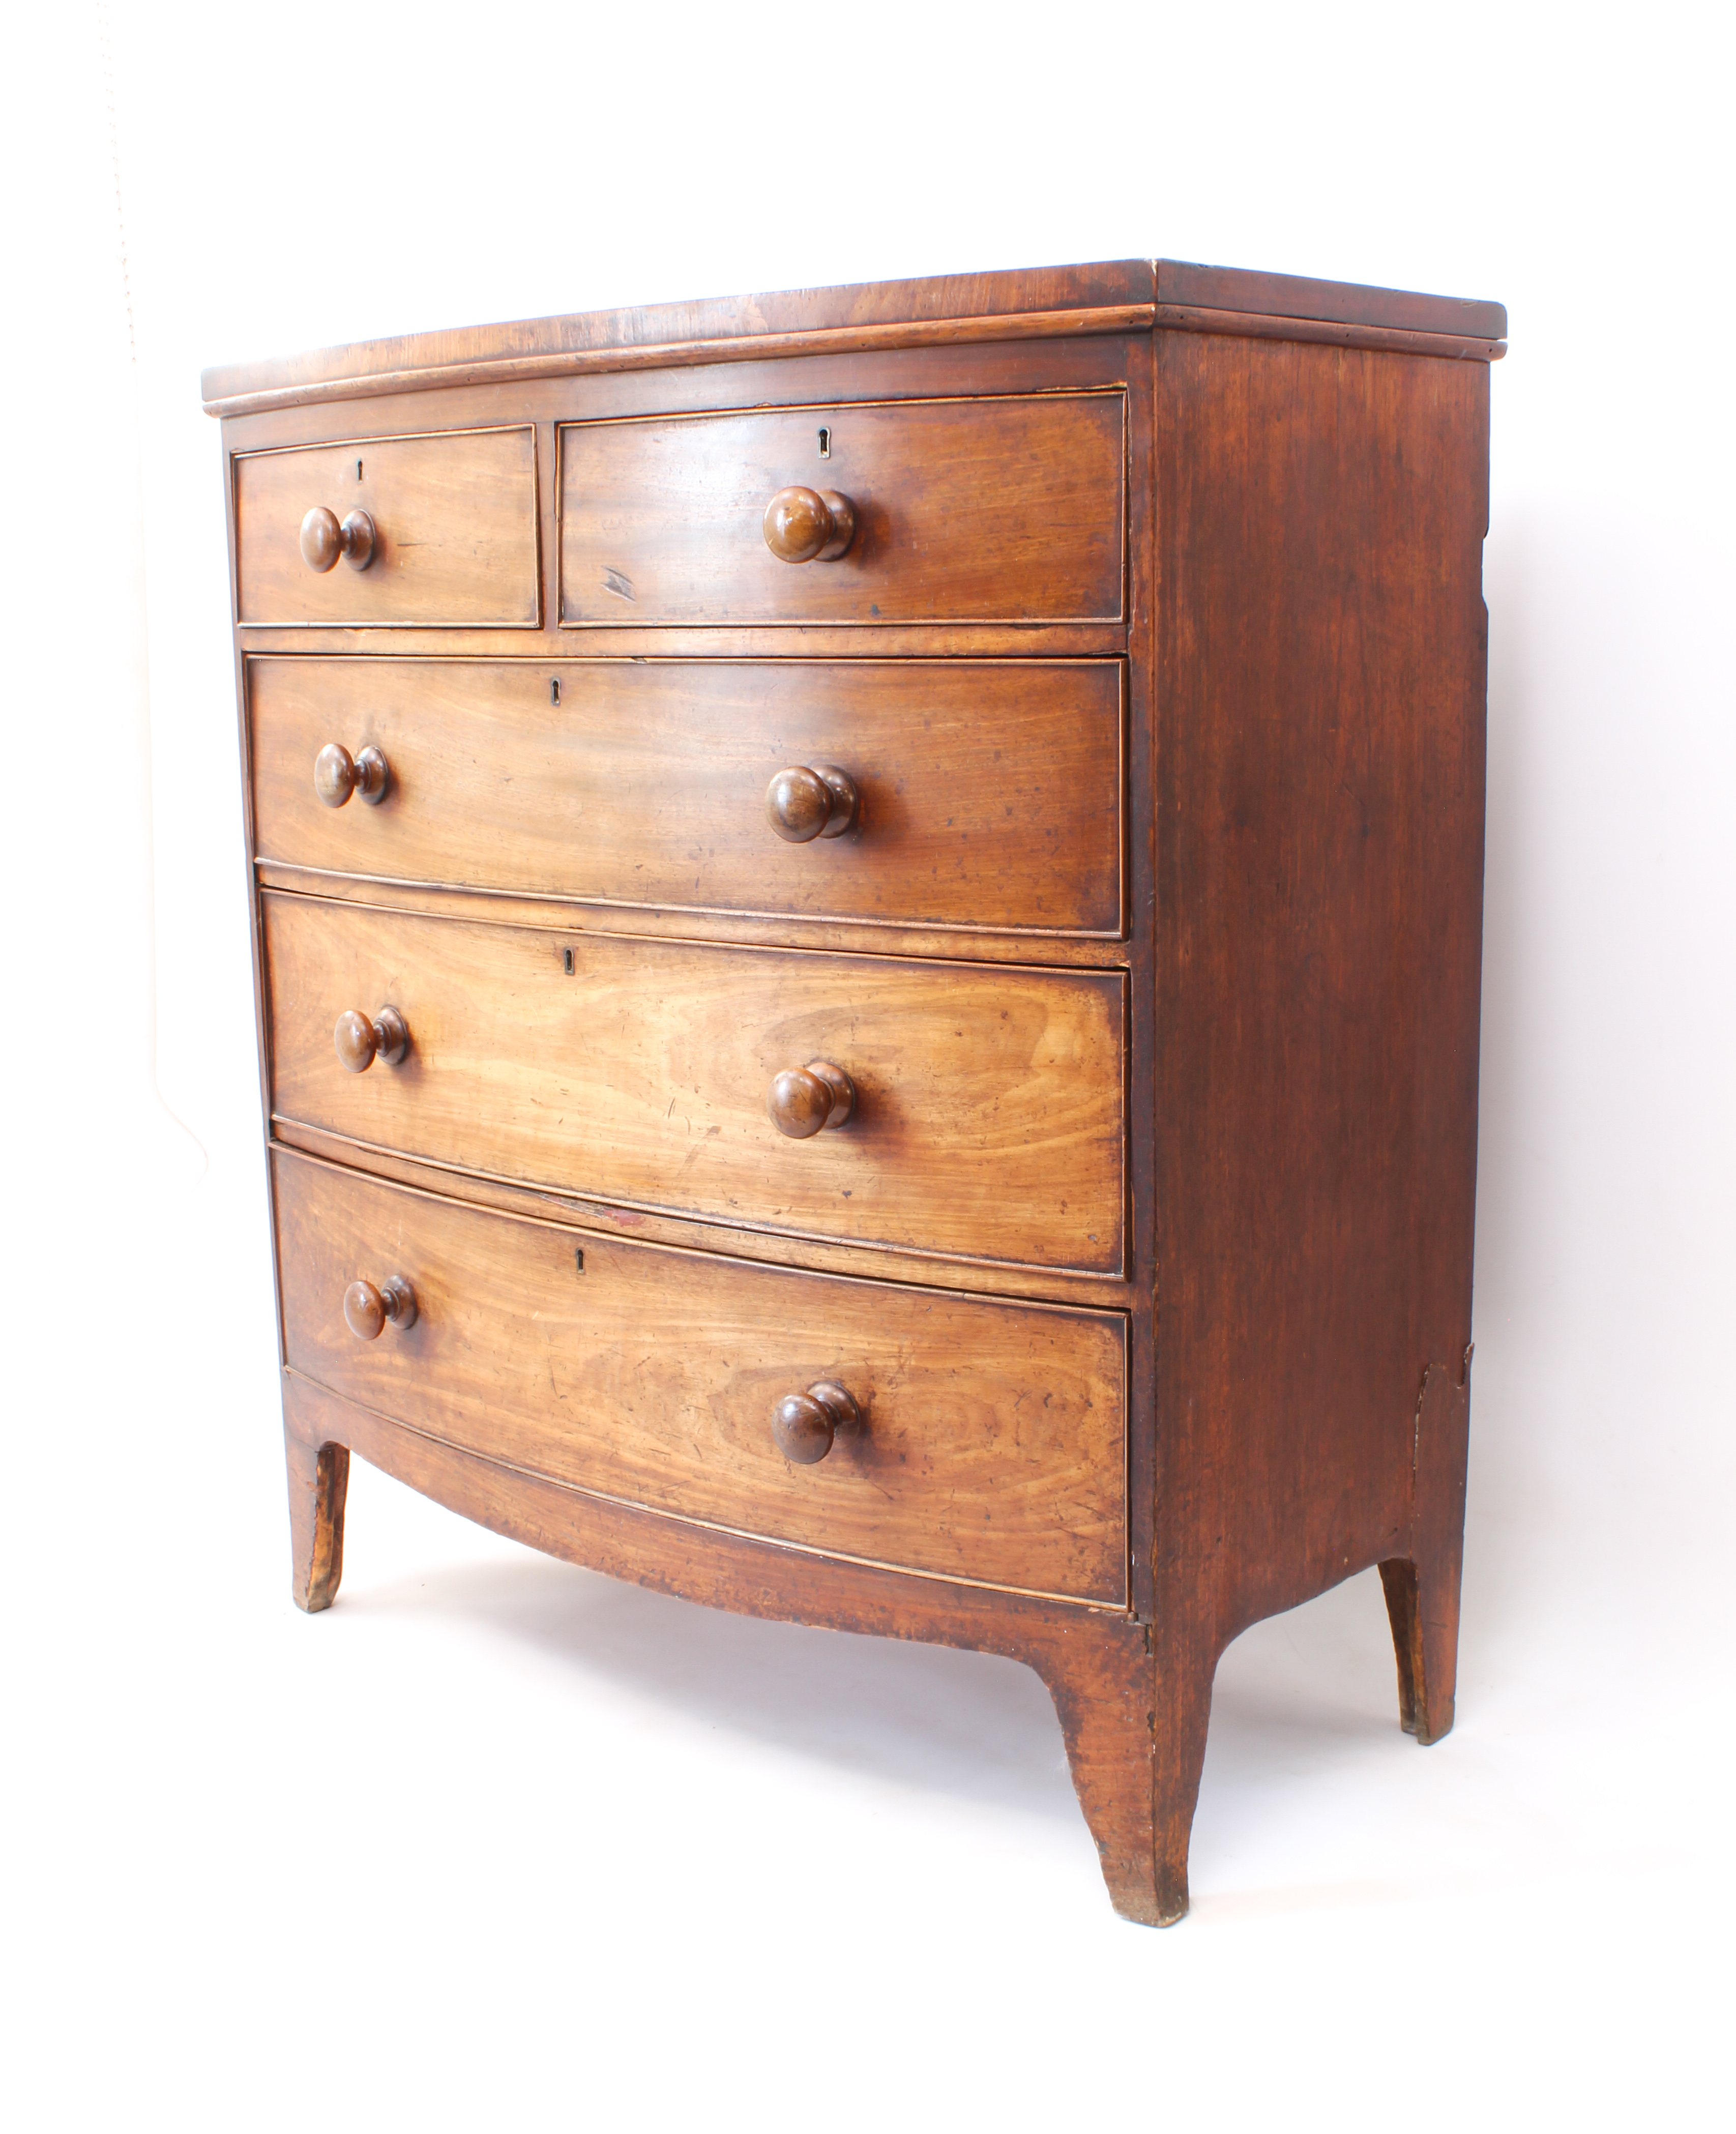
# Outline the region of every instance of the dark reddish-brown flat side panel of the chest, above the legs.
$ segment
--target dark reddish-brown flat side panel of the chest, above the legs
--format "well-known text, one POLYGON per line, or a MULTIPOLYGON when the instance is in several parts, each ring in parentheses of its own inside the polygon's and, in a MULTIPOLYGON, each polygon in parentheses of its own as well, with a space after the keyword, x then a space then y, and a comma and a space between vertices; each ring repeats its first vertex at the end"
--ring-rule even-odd
POLYGON ((1158 1611, 1222 1650, 1463 1519, 1414 1455, 1472 1336, 1489 371, 1171 335, 1158 391, 1158 1611))

